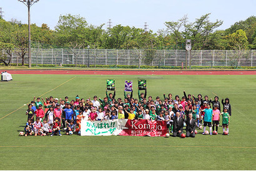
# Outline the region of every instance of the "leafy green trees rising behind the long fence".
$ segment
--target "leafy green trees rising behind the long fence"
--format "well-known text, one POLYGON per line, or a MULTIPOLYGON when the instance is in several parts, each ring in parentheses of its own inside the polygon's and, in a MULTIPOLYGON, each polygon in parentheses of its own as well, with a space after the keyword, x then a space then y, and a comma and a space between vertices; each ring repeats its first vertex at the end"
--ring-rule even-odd
MULTIPOLYGON (((41 27, 31 24, 32 48, 63 48, 75 53, 74 49, 86 49, 89 45, 90 49, 147 49, 150 53, 157 49, 183 50, 185 40, 191 39, 193 50, 256 49, 255 16, 235 22, 225 30, 218 30, 223 21, 211 22, 209 18, 210 13, 190 22, 184 16, 178 21, 165 22, 165 29, 154 33, 120 24, 103 29, 104 24, 88 24, 79 15, 61 15, 54 30, 47 24, 41 27)), ((24 65, 27 48, 27 24, 0 18, 0 63, 9 65, 12 53, 17 53, 24 65)))

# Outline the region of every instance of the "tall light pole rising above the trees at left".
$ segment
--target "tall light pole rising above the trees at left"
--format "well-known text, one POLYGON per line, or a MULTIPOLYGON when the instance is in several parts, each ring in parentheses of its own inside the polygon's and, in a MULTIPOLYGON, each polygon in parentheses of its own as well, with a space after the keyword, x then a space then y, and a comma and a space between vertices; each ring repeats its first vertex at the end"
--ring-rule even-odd
POLYGON ((30 7, 39 0, 17 0, 27 6, 29 26, 29 68, 31 68, 31 32, 30 32, 30 7))

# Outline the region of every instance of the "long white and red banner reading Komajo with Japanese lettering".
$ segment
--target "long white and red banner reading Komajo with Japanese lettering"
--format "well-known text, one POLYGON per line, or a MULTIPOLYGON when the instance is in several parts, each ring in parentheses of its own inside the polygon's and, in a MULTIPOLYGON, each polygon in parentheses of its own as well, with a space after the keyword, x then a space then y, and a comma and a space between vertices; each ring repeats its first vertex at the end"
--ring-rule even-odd
POLYGON ((165 121, 115 119, 81 122, 81 136, 165 136, 165 121))

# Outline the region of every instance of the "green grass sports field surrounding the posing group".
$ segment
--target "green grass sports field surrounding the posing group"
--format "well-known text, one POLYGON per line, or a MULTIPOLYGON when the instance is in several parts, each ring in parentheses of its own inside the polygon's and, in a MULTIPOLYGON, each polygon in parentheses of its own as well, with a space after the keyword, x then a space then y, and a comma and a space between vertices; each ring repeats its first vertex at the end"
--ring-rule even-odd
MULTIPOLYGON (((12 75, 0 82, 1 170, 255 170, 255 75, 142 76, 142 75, 12 75), (201 93, 232 105, 229 136, 192 138, 132 136, 24 137, 27 106, 33 96, 74 99, 103 98, 106 79, 116 80, 116 97, 124 81, 147 80, 148 96, 201 93), (22 107, 22 108, 21 108, 22 107), (16 110, 17 109, 17 110, 16 110), (16 110, 16 111, 15 111, 16 110), (14 112, 13 112, 14 111, 14 112), (9 114, 8 116, 6 116, 9 114), (6 116, 6 117, 4 117, 6 116), (3 118, 4 117, 4 118, 3 118)), ((134 88, 135 90, 135 88, 134 88)), ((137 98, 137 90, 134 91, 137 98)), ((222 133, 222 128, 219 127, 222 133)))

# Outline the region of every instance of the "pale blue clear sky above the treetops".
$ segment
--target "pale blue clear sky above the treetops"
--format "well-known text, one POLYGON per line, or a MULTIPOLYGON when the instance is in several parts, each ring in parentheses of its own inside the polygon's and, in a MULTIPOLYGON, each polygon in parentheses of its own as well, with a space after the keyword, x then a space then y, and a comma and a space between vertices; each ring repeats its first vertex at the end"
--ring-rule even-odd
MULTIPOLYGON (((0 0, 4 19, 12 18, 27 23, 27 7, 17 0, 0 0)), ((54 29, 62 14, 80 14, 89 24, 129 25, 157 32, 165 29, 165 21, 177 21, 187 14, 193 22, 200 16, 211 13, 210 21, 224 21, 219 29, 227 29, 237 21, 256 16, 255 0, 40 0, 31 7, 31 23, 42 23, 54 29)))

